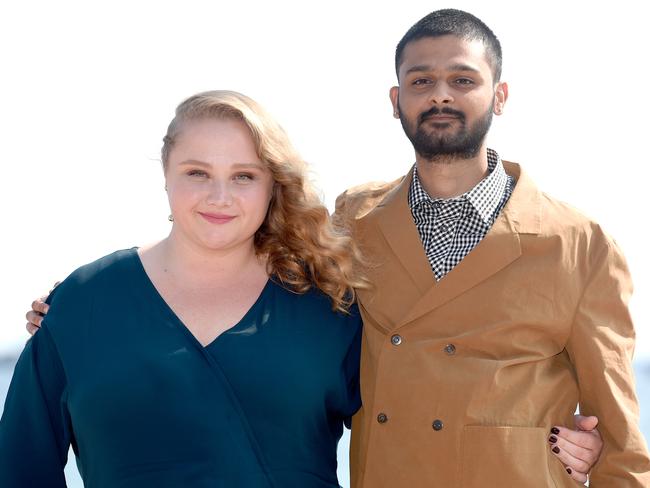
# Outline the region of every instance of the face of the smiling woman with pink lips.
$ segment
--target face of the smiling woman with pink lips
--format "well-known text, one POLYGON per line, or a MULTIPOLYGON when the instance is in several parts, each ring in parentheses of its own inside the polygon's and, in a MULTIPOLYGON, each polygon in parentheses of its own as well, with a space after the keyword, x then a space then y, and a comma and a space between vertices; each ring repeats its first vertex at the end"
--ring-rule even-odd
POLYGON ((273 178, 238 120, 184 122, 165 172, 177 235, 210 250, 253 246, 273 178))

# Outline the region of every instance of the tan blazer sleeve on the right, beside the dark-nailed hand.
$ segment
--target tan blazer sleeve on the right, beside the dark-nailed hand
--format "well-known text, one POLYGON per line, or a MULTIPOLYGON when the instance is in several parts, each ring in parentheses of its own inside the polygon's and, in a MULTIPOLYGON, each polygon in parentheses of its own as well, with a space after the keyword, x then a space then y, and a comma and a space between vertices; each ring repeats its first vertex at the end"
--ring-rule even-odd
POLYGON ((632 283, 616 244, 596 234, 589 246, 588 281, 578 304, 567 351, 576 368, 580 411, 597 415, 604 448, 591 488, 648 487, 650 460, 639 429, 628 310, 632 283))

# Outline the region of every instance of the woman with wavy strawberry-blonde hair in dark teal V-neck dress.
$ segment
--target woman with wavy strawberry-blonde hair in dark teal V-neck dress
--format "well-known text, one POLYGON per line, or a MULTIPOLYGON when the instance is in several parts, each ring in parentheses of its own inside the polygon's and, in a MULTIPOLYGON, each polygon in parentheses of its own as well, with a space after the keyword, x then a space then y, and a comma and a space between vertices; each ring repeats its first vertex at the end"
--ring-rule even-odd
POLYGON ((234 92, 179 105, 172 230, 72 273, 16 366, 0 486, 338 487, 364 286, 284 131, 234 92))

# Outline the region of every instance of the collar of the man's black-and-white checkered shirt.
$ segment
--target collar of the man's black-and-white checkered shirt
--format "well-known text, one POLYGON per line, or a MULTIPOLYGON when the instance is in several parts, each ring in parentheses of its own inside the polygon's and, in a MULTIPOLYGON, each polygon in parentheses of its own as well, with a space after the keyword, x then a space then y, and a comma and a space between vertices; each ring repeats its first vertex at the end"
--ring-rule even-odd
POLYGON ((508 184, 508 175, 503 168, 501 158, 493 149, 487 150, 489 174, 471 190, 453 198, 431 198, 424 190, 417 174, 417 167, 413 168, 413 181, 409 188, 408 201, 411 211, 417 211, 423 204, 451 204, 452 202, 468 201, 486 224, 492 223, 492 217, 503 198, 508 184))

